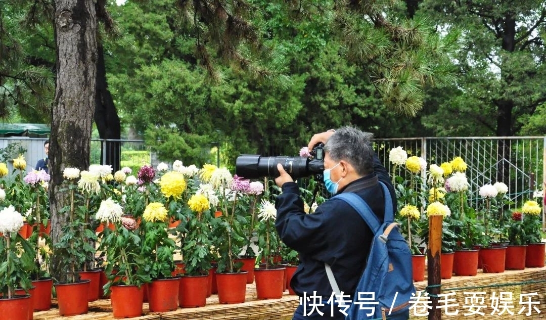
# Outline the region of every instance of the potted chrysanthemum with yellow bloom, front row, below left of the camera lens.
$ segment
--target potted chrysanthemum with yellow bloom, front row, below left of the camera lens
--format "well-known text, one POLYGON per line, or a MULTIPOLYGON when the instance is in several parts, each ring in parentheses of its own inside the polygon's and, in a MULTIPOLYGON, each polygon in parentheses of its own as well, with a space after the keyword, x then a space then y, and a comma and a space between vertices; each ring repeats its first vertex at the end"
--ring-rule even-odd
POLYGON ((186 223, 180 234, 180 253, 185 272, 180 278, 180 307, 202 307, 209 289, 209 270, 212 262, 209 199, 196 193, 187 202, 186 223))

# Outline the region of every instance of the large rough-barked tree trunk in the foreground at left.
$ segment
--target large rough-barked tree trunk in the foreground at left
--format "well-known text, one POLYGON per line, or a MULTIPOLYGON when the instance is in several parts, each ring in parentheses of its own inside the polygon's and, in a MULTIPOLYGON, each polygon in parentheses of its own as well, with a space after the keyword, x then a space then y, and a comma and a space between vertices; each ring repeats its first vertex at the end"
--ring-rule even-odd
POLYGON ((61 226, 68 215, 60 210, 68 203, 61 192, 63 170, 89 167, 97 73, 97 16, 93 0, 55 0, 55 41, 57 78, 51 114, 49 145, 51 175, 49 199, 51 240, 54 245, 51 272, 57 280, 66 279, 63 259, 55 250, 61 226))

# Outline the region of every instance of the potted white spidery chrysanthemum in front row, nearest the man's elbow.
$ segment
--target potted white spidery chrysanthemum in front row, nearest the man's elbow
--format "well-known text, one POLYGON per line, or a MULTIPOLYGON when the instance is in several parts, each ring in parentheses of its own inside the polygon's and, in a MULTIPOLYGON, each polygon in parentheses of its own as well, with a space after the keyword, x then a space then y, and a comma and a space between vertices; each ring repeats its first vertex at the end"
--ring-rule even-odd
POLYGON ((264 264, 254 270, 256 278, 256 294, 258 299, 280 299, 282 297, 286 280, 284 278, 286 268, 280 268, 274 264, 274 248, 279 246, 279 238, 275 230, 277 209, 275 204, 268 199, 262 199, 258 208, 258 246, 261 249, 260 257, 264 264))

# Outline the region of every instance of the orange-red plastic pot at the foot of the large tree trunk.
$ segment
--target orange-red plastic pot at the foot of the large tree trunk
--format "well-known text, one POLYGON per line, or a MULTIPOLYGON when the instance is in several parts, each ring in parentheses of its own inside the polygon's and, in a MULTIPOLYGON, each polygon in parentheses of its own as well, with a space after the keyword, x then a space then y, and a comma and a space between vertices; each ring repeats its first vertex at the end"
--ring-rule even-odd
POLYGON ((90 280, 74 283, 55 283, 59 314, 61 316, 84 315, 89 311, 88 291, 90 280))

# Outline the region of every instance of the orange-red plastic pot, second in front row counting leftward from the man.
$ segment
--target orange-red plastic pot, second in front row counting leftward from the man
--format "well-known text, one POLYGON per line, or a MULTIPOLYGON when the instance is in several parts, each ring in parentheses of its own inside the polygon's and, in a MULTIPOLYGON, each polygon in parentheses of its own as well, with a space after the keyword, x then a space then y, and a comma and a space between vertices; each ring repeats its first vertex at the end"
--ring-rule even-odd
POLYGON ((234 273, 216 272, 219 303, 236 304, 245 302, 246 274, 247 271, 234 273))

